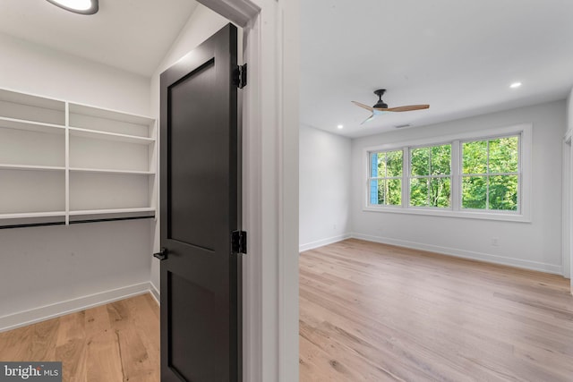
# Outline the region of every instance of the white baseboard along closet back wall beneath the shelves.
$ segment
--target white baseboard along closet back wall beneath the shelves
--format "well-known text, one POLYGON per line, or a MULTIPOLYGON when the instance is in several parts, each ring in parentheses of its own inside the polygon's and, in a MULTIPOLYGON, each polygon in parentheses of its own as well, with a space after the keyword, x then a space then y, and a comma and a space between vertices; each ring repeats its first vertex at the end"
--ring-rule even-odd
POLYGON ((0 332, 25 327, 49 318, 64 316, 80 310, 86 310, 109 302, 123 300, 143 293, 153 294, 155 287, 151 283, 141 283, 124 286, 106 292, 94 293, 77 299, 56 302, 32 310, 24 310, 0 317, 0 332))

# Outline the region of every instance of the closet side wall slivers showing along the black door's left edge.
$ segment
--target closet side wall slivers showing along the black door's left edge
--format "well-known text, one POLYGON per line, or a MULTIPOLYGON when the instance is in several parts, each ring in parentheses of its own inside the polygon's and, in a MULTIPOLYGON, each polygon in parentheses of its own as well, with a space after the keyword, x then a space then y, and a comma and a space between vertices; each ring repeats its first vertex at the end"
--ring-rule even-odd
MULTIPOLYGON (((157 70, 151 77, 150 85, 150 110, 151 115, 159 121, 159 76, 165 72, 167 68, 175 64, 180 58, 192 51, 207 38, 210 38, 215 32, 227 25, 229 21, 218 13, 214 13, 209 8, 202 4, 197 5, 197 8, 192 13, 189 21, 185 24, 183 30, 175 41, 167 55, 159 64, 157 70)), ((159 250, 160 237, 159 237, 159 221, 151 229, 153 250, 159 250)), ((159 291, 159 260, 153 259, 151 263, 151 284, 156 289, 154 291, 156 296, 159 291)))

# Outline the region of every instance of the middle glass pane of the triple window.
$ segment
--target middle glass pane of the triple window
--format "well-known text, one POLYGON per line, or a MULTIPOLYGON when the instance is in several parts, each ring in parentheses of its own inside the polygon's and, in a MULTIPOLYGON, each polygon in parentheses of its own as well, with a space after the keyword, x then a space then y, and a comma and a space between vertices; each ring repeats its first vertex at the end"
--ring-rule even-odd
POLYGON ((450 206, 451 145, 410 150, 410 206, 450 206))

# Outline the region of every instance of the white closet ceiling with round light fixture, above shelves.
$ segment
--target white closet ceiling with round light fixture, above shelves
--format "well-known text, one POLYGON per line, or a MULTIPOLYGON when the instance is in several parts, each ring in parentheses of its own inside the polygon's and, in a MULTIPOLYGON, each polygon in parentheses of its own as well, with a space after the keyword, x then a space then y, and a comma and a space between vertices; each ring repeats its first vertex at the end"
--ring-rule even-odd
POLYGON ((99 12, 67 12, 46 0, 0 1, 0 33, 146 77, 184 27, 193 0, 99 0, 99 12))

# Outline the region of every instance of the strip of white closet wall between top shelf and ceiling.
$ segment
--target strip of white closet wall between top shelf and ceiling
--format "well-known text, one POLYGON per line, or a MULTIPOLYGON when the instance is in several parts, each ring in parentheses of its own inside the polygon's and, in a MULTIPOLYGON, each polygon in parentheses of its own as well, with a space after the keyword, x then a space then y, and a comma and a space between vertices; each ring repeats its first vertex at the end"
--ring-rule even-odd
POLYGON ((0 87, 133 114, 150 114, 150 81, 0 34, 0 87))

